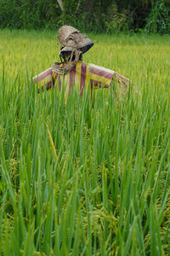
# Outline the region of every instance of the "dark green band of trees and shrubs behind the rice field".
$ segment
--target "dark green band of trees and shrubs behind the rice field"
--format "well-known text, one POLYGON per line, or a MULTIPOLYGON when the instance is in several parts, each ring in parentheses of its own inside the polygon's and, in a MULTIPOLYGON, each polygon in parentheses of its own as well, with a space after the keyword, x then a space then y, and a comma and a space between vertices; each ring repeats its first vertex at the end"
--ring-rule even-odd
POLYGON ((0 27, 58 29, 64 24, 86 32, 169 33, 169 0, 1 0, 0 27))

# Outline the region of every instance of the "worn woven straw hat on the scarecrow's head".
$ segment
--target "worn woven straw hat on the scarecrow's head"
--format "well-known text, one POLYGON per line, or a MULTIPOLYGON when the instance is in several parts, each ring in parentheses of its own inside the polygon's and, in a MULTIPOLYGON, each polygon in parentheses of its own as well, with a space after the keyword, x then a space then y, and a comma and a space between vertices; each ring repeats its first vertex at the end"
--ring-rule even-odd
POLYGON ((61 26, 58 38, 61 44, 59 54, 61 57, 65 57, 66 53, 71 54, 76 49, 79 49, 83 54, 94 45, 86 35, 83 35, 73 26, 61 26))

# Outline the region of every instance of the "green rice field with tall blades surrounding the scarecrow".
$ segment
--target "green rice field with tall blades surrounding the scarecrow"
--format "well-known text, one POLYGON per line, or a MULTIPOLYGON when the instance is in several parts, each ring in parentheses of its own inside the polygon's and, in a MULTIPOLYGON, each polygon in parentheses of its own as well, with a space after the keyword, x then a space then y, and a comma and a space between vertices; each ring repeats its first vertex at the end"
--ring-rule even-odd
POLYGON ((1 254, 170 255, 170 37, 89 34, 83 61, 142 96, 65 102, 30 82, 59 61, 56 36, 0 31, 1 254))

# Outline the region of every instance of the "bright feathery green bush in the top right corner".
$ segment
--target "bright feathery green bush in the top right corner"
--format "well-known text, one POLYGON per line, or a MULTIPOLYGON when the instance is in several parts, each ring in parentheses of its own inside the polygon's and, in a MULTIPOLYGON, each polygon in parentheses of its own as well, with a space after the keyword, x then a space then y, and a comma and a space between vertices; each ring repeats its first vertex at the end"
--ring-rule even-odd
POLYGON ((169 9, 165 6, 164 1, 159 0, 153 6, 147 23, 144 28, 146 32, 158 32, 160 34, 170 33, 169 9))

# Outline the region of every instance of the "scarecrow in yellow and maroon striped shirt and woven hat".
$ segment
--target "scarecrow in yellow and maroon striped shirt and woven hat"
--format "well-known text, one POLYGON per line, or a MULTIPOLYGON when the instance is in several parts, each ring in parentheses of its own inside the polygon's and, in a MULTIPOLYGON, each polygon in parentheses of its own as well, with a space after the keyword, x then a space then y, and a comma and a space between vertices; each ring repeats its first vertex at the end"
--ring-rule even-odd
MULTIPOLYGON (((109 88, 113 81, 118 82, 119 89, 128 90, 129 79, 123 77, 111 69, 99 67, 94 64, 82 62, 82 55, 86 53, 94 43, 73 26, 61 26, 58 33, 61 44, 59 57, 61 62, 33 78, 33 82, 40 85, 39 90, 49 90, 59 86, 65 86, 65 97, 71 94, 73 86, 77 86, 82 96, 83 90, 90 86, 91 92, 98 88, 109 88)), ((38 91, 39 91, 38 90, 38 91)))

